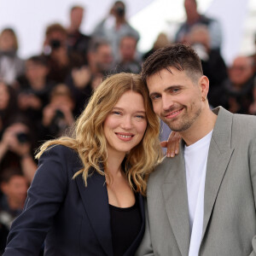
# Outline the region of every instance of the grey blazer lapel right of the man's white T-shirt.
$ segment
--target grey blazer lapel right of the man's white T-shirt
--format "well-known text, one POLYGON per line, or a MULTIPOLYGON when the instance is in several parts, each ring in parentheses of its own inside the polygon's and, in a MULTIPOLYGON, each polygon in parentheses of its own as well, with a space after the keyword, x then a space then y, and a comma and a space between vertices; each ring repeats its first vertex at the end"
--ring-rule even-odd
POLYGON ((212 132, 207 160, 202 239, 207 230, 218 189, 234 151, 230 144, 233 114, 224 108, 215 108, 213 112, 218 113, 218 119, 212 132))

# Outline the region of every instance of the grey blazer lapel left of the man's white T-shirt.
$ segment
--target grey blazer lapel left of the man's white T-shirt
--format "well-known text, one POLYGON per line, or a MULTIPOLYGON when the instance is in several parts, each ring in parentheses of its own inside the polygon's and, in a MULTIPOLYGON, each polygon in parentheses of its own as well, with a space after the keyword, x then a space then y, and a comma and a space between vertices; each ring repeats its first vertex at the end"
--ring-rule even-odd
POLYGON ((190 229, 183 143, 180 154, 174 159, 166 159, 165 167, 170 168, 167 171, 166 182, 162 186, 166 212, 179 250, 183 256, 187 256, 189 254, 190 229))

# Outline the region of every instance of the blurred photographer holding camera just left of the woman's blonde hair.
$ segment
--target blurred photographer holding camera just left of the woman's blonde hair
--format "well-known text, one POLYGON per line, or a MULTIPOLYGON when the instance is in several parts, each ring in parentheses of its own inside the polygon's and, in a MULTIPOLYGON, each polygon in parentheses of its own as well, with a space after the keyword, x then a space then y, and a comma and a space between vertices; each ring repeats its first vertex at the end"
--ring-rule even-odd
POLYGON ((43 110, 43 139, 61 136, 73 125, 73 96, 66 84, 57 84, 51 91, 49 104, 43 110))

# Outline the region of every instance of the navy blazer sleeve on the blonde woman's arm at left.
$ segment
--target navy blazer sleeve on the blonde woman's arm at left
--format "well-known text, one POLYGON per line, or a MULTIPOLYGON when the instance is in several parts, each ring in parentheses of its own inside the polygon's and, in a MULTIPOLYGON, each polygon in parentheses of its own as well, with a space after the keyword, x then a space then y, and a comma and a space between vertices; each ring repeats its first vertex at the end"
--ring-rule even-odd
POLYGON ((38 255, 67 192, 67 149, 49 148, 38 162, 23 212, 15 219, 4 256, 38 255))

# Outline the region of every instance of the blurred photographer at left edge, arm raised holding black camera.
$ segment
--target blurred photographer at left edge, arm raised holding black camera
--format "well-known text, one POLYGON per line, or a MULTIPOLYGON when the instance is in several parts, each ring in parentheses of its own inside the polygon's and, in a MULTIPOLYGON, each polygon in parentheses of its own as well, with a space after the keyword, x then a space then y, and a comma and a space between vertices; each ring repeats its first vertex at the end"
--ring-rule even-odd
POLYGON ((20 168, 28 183, 32 182, 37 164, 33 160, 33 137, 30 125, 17 117, 3 131, 0 141, 0 170, 8 167, 20 168))

